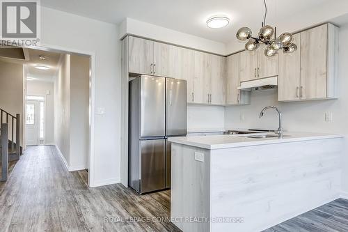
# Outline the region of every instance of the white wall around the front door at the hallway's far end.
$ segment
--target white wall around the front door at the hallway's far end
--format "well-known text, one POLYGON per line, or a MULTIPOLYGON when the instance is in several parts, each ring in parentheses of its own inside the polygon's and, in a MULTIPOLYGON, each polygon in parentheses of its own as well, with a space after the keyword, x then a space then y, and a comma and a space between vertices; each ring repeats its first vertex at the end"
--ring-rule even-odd
POLYGON ((26 95, 42 95, 45 102, 45 144, 54 144, 54 84, 52 82, 26 82, 26 95), (49 94, 47 94, 49 91, 49 94))

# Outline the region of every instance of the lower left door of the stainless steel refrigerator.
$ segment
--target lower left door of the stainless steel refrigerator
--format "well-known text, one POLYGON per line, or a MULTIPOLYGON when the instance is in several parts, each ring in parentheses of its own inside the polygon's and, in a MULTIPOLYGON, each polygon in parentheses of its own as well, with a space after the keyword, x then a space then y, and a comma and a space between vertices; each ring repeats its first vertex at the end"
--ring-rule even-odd
POLYGON ((166 140, 141 141, 141 193, 166 187, 166 140))

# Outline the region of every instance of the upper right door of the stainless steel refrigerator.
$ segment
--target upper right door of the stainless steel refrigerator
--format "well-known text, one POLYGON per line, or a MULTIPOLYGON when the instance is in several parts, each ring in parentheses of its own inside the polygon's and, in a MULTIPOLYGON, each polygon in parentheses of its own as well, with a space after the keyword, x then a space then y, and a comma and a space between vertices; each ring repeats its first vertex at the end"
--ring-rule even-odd
POLYGON ((166 136, 187 134, 187 82, 166 79, 166 136))

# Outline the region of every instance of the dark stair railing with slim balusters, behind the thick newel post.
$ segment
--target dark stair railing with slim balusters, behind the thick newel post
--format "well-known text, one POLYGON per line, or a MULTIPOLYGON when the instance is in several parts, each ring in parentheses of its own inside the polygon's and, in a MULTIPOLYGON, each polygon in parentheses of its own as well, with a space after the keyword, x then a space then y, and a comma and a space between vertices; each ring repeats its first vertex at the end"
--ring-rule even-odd
POLYGON ((11 125, 10 133, 8 133, 8 139, 10 139, 11 150, 15 150, 16 156, 19 159, 20 156, 20 115, 13 116, 7 111, 0 109, 0 129, 3 121, 6 121, 7 125, 11 125), (10 123, 10 124, 9 124, 10 123), (15 146, 16 144, 16 146, 15 146))

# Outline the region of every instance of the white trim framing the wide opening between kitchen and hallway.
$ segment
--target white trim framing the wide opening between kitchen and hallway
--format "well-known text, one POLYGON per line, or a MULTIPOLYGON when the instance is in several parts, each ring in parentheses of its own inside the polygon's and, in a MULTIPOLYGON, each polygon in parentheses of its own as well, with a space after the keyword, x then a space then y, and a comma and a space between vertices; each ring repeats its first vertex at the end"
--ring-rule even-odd
POLYGON ((61 52, 65 54, 77 54, 82 56, 90 56, 89 65, 89 149, 88 149, 88 186, 96 187, 95 184, 95 52, 81 51, 78 49, 71 49, 68 47, 60 47, 55 45, 48 45, 41 43, 40 47, 32 46, 30 48, 38 49, 47 52, 61 52))

